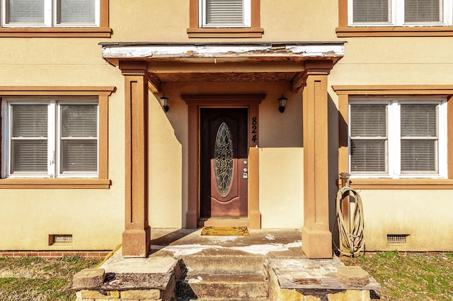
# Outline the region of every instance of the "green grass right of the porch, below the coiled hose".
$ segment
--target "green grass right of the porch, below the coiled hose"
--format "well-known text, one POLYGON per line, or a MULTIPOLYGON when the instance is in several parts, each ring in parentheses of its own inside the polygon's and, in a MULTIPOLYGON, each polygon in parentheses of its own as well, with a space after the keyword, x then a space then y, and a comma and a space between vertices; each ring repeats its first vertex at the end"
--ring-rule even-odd
POLYGON ((340 259, 374 277, 381 300, 453 300, 453 253, 394 251, 340 259))

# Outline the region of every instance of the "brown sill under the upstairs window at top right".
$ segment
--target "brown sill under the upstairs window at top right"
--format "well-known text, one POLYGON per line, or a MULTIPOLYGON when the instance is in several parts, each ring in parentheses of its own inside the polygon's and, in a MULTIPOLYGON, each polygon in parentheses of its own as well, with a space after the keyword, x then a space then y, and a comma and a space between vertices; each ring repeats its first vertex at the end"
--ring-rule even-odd
POLYGON ((337 37, 451 37, 453 26, 338 27, 337 37))

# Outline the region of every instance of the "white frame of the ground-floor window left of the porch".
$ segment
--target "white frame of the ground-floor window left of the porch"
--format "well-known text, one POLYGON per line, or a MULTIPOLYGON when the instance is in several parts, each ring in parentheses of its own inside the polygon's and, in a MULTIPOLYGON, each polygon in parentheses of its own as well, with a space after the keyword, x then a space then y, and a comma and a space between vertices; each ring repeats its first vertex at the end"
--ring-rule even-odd
POLYGON ((99 174, 99 103, 94 98, 74 101, 70 98, 4 98, 1 103, 2 124, 2 178, 97 178, 99 174), (11 105, 47 105, 47 173, 18 172, 11 173, 11 105), (96 105, 96 172, 60 172, 61 170, 61 110, 60 105, 96 105))

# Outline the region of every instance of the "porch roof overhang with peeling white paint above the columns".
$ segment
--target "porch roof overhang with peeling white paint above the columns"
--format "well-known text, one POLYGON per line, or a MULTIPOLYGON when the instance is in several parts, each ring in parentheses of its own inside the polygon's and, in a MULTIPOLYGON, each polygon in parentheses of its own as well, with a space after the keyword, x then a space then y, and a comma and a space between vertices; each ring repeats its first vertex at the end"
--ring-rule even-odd
POLYGON ((344 55, 345 42, 149 43, 105 42, 103 59, 114 66, 145 61, 153 92, 161 83, 187 81, 289 81, 300 83, 306 62, 329 62, 344 55))

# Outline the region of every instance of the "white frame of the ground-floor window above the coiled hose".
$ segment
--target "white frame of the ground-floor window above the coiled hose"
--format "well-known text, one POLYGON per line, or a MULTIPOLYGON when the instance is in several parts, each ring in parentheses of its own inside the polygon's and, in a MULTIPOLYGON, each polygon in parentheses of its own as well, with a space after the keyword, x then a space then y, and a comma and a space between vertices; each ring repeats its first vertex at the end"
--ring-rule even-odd
POLYGON ((353 97, 350 98, 348 110, 350 111, 351 105, 367 104, 367 105, 387 105, 387 118, 386 118, 386 131, 387 131, 387 151, 386 151, 386 165, 387 172, 352 172, 351 169, 351 116, 349 114, 348 120, 348 145, 349 145, 349 170, 351 178, 432 178, 432 179, 447 179, 447 99, 439 97, 429 98, 415 98, 415 97, 399 97, 388 98, 382 97, 382 100, 372 100, 366 97, 353 97), (416 172, 409 174, 401 172, 401 104, 437 104, 437 172, 416 172), (389 130, 391 129, 391 130, 389 130))

